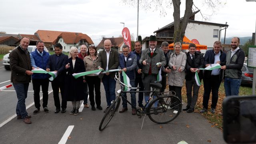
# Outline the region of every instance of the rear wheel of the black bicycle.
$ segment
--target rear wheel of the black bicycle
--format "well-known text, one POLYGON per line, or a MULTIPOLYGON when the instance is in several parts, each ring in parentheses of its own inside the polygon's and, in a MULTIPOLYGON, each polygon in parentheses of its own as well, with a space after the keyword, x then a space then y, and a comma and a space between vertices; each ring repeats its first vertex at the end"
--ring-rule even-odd
POLYGON ((154 99, 148 106, 148 117, 157 124, 166 124, 174 120, 181 112, 182 104, 176 96, 154 99), (157 107, 154 103, 159 102, 157 107))

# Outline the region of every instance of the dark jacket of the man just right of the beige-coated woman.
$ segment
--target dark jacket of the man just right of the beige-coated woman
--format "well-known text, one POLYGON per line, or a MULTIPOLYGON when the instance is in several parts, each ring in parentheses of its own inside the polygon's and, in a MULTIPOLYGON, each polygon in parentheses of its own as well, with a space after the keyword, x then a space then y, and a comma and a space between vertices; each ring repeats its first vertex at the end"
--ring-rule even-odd
MULTIPOLYGON (((190 56, 190 53, 187 52, 187 62, 186 62, 186 76, 185 79, 186 80, 191 80, 193 76, 195 76, 195 72, 191 72, 190 68, 204 68, 204 56, 202 54, 200 54, 200 52, 195 52, 194 55, 194 67, 192 67, 192 59, 190 56)), ((198 76, 200 79, 203 78, 203 71, 200 70, 200 72, 198 73, 198 76)))

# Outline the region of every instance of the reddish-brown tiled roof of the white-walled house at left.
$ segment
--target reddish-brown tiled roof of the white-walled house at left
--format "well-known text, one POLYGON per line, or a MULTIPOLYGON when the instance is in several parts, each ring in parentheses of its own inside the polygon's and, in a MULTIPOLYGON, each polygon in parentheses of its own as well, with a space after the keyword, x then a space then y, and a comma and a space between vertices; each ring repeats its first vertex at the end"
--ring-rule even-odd
POLYGON ((62 32, 53 43, 57 43, 60 38, 63 38, 66 44, 78 43, 80 40, 84 40, 88 44, 94 44, 92 39, 86 34, 75 33, 75 32, 62 32))

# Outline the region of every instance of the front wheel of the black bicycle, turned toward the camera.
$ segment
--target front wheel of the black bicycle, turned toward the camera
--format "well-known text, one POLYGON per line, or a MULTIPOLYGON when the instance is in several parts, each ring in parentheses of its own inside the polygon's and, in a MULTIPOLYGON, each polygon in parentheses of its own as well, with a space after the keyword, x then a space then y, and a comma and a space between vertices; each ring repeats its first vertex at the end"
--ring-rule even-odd
POLYGON ((106 111, 106 113, 104 114, 100 122, 100 126, 99 126, 100 131, 106 128, 110 120, 115 115, 115 112, 118 110, 119 105, 120 105, 120 98, 117 96, 116 99, 112 101, 112 104, 110 105, 110 107, 108 108, 108 110, 106 111))

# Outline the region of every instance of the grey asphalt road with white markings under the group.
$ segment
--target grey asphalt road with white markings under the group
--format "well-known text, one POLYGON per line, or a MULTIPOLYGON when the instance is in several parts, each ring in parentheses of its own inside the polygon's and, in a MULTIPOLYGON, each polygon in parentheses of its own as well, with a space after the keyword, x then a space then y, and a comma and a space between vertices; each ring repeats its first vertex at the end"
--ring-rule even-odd
MULTIPOLYGON (((0 83, 10 80, 10 71, 0 68, 0 83)), ((6 82, 4 84, 9 84, 6 82)), ((3 86, 1 84, 0 86, 3 86)), ((120 86, 116 86, 116 90, 120 86)), ((13 87, 6 90, 14 90, 13 87)), ((32 91, 30 84, 29 91, 32 91)), ((51 86, 49 86, 49 91, 51 86)), ((15 114, 16 93, 0 91, 0 124, 15 114)), ((128 100, 130 96, 128 94, 128 100)), ((101 85, 102 107, 106 108, 104 87, 101 85)), ((33 92, 28 93, 26 106, 33 102, 33 92)), ((90 101, 88 101, 90 102, 90 101)), ((42 100, 41 100, 42 103, 42 100)), ((185 105, 185 104, 184 104, 185 105)), ((42 110, 32 114, 34 105, 27 109, 32 115, 32 124, 24 124, 16 117, 0 127, 1 144, 177 144, 184 140, 188 144, 225 144, 222 132, 198 113, 182 112, 178 118, 168 124, 155 124, 148 117, 139 119, 131 114, 131 108, 122 114, 116 113, 108 126, 99 131, 98 126, 103 110, 92 111, 90 108, 80 108, 80 114, 70 115, 71 102, 68 102, 67 112, 54 114, 55 106, 52 93, 49 94, 49 113, 42 110), (162 127, 162 128, 160 128, 162 127), (70 133, 68 133, 70 131, 70 133), (65 135, 65 132, 67 134, 65 135), (65 135, 65 136, 64 136, 65 135)), ((119 109, 122 108, 122 105, 119 109)))

